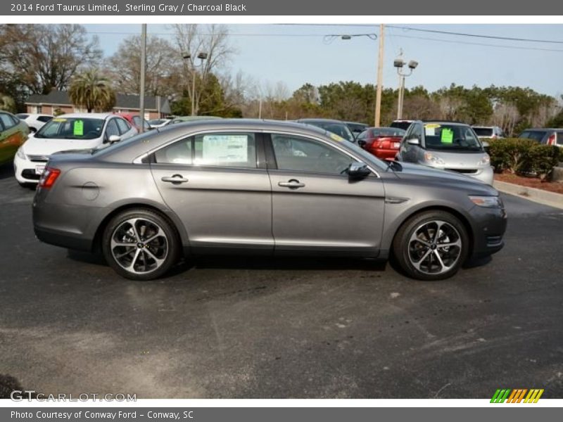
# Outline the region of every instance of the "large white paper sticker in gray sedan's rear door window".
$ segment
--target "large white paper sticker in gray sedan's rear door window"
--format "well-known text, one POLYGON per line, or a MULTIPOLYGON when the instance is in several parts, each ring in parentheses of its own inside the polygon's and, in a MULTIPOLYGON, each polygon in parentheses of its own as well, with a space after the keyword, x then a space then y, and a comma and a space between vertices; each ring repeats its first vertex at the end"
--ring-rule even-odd
POLYGON ((248 159, 247 135, 205 135, 202 143, 202 158, 198 164, 246 162, 248 159))

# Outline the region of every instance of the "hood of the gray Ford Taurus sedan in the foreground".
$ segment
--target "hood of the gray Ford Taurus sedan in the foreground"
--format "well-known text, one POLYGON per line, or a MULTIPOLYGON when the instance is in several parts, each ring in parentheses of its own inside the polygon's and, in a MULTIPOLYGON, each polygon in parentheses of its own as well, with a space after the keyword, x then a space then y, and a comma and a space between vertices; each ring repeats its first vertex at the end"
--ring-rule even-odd
POLYGON ((393 172, 400 179, 408 179, 412 177, 424 177, 428 179, 429 183, 436 184, 450 184, 469 188, 470 190, 486 191, 488 194, 496 195, 497 191, 492 186, 474 179, 474 177, 466 176, 465 174, 452 172, 449 170, 440 170, 434 167, 427 167, 425 165, 412 164, 410 162, 399 162, 399 166, 393 167, 393 172))

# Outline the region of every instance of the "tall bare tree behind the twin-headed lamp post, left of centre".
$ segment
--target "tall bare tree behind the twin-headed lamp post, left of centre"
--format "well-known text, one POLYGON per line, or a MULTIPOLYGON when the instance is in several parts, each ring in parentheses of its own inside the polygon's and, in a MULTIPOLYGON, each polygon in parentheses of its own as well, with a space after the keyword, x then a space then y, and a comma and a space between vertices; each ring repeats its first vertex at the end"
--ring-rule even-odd
POLYGON ((191 98, 194 98, 197 114, 203 90, 196 88, 196 92, 192 92, 191 82, 195 77, 196 81, 201 82, 201 86, 205 86, 210 73, 218 72, 222 66, 226 65, 234 53, 234 49, 229 45, 229 31, 224 25, 177 24, 173 26, 173 29, 179 58, 189 54, 191 60, 194 60, 191 63, 189 60, 184 60, 182 75, 186 75, 186 78, 183 79, 184 87, 190 101, 191 98), (199 53, 207 54, 207 58, 202 60, 201 65, 197 59, 199 53), (194 74, 192 63, 198 66, 195 69, 197 76, 194 74))

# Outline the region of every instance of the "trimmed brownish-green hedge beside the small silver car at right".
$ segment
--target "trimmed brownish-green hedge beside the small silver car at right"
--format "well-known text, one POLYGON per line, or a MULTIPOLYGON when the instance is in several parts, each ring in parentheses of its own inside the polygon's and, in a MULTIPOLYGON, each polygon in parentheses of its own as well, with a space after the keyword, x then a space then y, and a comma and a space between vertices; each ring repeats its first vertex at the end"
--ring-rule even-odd
POLYGON ((563 160, 558 146, 543 145, 531 139, 486 139, 488 153, 495 172, 533 175, 540 179, 551 177, 553 167, 563 160))

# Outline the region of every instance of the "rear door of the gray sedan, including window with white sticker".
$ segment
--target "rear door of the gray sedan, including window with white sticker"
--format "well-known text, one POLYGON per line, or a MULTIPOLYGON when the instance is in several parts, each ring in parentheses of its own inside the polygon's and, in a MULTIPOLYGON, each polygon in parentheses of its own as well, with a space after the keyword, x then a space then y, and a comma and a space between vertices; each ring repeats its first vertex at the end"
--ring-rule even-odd
POLYGON ((273 252, 270 178, 257 160, 261 136, 207 132, 152 155, 158 190, 182 219, 194 252, 273 252))

